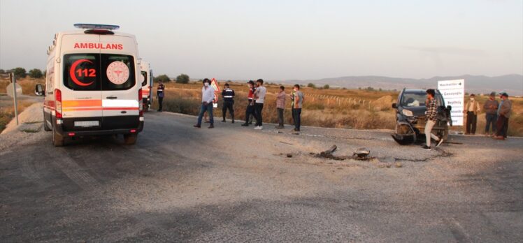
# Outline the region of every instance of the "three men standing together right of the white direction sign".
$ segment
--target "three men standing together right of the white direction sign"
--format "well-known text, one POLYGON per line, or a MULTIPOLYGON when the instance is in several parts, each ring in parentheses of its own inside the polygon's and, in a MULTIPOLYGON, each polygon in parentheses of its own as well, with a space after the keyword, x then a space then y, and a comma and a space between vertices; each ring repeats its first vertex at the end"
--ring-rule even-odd
MULTIPOLYGON (((485 135, 492 136, 494 139, 504 140, 507 138, 508 118, 512 111, 512 101, 508 99, 508 94, 505 91, 499 93, 499 98, 500 101, 497 101, 496 92, 492 92, 489 99, 483 104, 486 121, 485 135)), ((478 113, 480 111, 480 103, 475 100, 475 94, 471 94, 463 110, 466 115, 466 135, 475 135, 478 113)))

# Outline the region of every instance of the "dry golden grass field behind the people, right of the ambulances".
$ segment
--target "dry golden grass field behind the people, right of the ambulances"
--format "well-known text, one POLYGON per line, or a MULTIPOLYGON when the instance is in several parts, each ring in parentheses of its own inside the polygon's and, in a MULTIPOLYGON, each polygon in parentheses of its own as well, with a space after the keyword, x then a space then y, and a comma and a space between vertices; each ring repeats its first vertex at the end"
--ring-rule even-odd
MULTIPOLYGON (((224 82, 220 82, 222 89, 224 82)), ((230 82, 231 88, 236 92, 234 112, 236 119, 245 119, 247 105, 247 84, 230 82)), ((267 98, 264 105, 264 121, 277 122, 275 108, 275 94, 279 85, 269 84, 267 98)), ((292 87, 286 86, 289 94, 292 87)), ((303 103, 302 124, 304 126, 320 126, 331 128, 356 128, 356 129, 393 129, 394 110, 392 102, 396 101, 396 91, 368 91, 366 89, 313 89, 303 87, 306 95, 303 103)), ((480 103, 487 100, 487 96, 476 96, 480 103)), ((510 98, 513 101, 513 114, 509 119, 509 135, 523 136, 523 98, 510 98)), ((197 115, 201 101, 201 84, 176 84, 166 83, 166 98, 164 110, 197 115)), ((157 103, 153 105, 157 108, 157 103)), ((214 110, 215 120, 222 119, 222 101, 214 110)), ((229 115, 227 116, 229 118, 229 115)), ((287 99, 285 110, 285 124, 292 124, 291 103, 287 99)), ((485 130, 485 113, 478 115, 478 134, 485 130)), ((464 127, 454 126, 452 131, 461 132, 464 127)))

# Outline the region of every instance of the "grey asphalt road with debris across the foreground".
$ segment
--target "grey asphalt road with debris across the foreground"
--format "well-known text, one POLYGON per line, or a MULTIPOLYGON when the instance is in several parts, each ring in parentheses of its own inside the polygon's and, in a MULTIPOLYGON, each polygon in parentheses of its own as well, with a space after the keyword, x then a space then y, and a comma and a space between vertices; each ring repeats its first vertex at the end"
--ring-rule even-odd
POLYGON ((453 136, 424 151, 389 131, 145 119, 132 146, 56 148, 40 131, 2 149, 0 242, 523 241, 521 138, 453 136), (376 159, 310 154, 331 145, 376 159))

